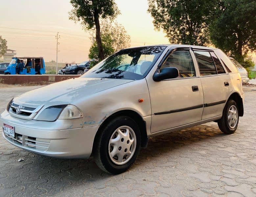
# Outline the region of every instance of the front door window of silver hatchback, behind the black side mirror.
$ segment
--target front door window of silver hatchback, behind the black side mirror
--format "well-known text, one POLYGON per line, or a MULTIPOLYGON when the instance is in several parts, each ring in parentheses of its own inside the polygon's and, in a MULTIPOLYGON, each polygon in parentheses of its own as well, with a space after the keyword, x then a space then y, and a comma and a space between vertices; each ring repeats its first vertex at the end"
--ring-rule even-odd
POLYGON ((175 67, 179 70, 179 77, 195 77, 195 67, 189 51, 175 51, 169 55, 165 63, 161 66, 160 72, 163 68, 175 67))

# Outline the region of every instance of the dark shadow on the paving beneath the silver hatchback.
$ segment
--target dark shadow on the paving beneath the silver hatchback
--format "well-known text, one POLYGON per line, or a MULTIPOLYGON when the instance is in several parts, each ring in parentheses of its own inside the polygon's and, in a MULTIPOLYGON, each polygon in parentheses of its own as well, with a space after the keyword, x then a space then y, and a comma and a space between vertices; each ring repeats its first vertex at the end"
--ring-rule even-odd
MULTIPOLYGON (((224 134, 218 129, 216 123, 208 124, 210 126, 199 125, 150 138, 148 147, 141 149, 135 164, 121 175, 113 176, 103 172, 95 164, 92 157, 87 160, 55 159, 15 149, 12 153, 12 160, 16 160, 16 162, 12 162, 9 166, 12 168, 12 173, 16 173, 16 176, 6 178, 15 179, 15 182, 18 181, 16 185, 21 186, 23 186, 24 180, 26 180, 26 183, 37 183, 35 189, 47 187, 48 194, 54 194, 55 190, 53 189, 59 187, 59 184, 62 184, 61 188, 67 192, 74 189, 71 186, 83 186, 83 188, 105 187, 107 180, 122 179, 129 173, 138 174, 138 171, 151 171, 151 168, 162 164, 174 165, 177 158, 189 157, 189 151, 196 150, 198 145, 208 146, 212 142, 218 142, 218 138, 224 134), (20 157, 25 160, 17 162, 20 157)), ((5 171, 2 171, 0 175, 4 177, 5 171)))

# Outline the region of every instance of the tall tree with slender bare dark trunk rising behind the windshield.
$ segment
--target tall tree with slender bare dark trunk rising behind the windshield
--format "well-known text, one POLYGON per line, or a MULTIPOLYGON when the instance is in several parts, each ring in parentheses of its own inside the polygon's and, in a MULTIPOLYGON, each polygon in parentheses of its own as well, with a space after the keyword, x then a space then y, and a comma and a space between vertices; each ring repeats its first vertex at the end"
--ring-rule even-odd
POLYGON ((69 12, 69 19, 80 22, 84 30, 96 27, 96 42, 99 49, 100 60, 105 58, 102 39, 100 18, 113 20, 120 11, 114 0, 70 0, 73 9, 69 12))

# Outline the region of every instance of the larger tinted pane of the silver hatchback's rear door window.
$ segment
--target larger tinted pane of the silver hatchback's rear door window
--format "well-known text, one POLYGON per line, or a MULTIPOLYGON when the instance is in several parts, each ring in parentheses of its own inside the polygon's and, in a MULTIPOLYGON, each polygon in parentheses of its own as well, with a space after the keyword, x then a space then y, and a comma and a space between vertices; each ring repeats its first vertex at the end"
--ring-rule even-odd
POLYGON ((207 51, 194 51, 197 58, 200 76, 216 75, 217 71, 211 54, 207 51))

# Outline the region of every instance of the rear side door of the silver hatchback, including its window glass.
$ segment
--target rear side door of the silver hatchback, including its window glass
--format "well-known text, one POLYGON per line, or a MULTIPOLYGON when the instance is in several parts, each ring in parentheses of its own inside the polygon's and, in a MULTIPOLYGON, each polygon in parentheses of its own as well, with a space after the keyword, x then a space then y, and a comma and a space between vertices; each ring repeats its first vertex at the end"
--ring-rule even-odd
POLYGON ((214 51, 194 51, 203 88, 204 108, 202 120, 221 116, 225 102, 232 91, 228 75, 214 51))

